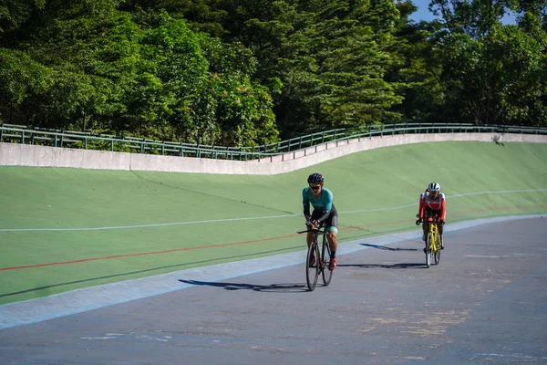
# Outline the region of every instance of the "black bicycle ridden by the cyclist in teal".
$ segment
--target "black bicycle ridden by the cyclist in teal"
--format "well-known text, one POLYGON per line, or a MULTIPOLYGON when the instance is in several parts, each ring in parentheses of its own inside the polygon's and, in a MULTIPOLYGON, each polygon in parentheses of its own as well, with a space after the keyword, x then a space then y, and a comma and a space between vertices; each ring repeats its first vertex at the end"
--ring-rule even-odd
POLYGON ((310 291, 314 291, 317 285, 317 277, 319 273, 323 276, 323 284, 328 286, 333 278, 333 270, 329 269, 331 259, 331 250, 328 241, 326 240, 326 233, 321 229, 308 229, 307 231, 297 232, 298 234, 306 234, 313 232, 314 241, 308 247, 307 256, 305 259, 305 280, 307 282, 310 291), (323 235, 323 244, 321 245, 321 252, 319 252, 319 243, 317 237, 323 235))

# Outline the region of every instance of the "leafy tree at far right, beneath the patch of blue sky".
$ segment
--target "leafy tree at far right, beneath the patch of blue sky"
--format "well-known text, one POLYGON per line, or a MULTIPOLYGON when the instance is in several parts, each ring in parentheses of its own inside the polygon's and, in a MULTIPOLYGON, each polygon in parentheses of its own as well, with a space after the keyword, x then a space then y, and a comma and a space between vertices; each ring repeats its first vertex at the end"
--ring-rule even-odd
MULTIPOLYGON (((542 125, 547 34, 536 5, 509 1, 434 0, 444 21, 437 57, 448 114, 492 124, 542 125), (502 25, 507 9, 532 9, 519 26, 502 25)), ((544 10, 543 10, 544 11, 544 10)))

